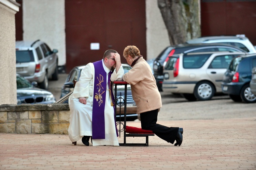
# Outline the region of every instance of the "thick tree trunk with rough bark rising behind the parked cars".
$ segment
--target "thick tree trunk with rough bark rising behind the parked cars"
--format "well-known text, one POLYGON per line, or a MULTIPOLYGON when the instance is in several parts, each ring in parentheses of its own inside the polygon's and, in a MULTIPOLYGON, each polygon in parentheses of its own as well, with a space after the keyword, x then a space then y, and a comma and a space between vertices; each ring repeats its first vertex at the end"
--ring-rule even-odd
POLYGON ((158 0, 171 45, 201 35, 199 0, 158 0))

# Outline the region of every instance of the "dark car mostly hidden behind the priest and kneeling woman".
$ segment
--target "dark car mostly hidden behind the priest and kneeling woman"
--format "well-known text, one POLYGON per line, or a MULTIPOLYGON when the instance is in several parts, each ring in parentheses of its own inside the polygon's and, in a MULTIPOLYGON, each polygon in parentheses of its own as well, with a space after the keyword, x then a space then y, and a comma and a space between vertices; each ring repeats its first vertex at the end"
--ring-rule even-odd
MULTIPOLYGON (((67 95, 69 92, 71 92, 74 89, 73 81, 74 80, 79 81, 81 71, 83 68, 85 68, 85 66, 86 65, 76 66, 70 71, 64 85, 61 88, 60 98, 67 95)), ((122 64, 122 66, 123 66, 125 73, 127 73, 131 69, 131 66, 129 66, 128 64, 122 64)), ((121 100, 121 101, 120 100, 117 101, 118 104, 119 104, 119 102, 121 102, 121 105, 124 103, 124 100, 123 100, 124 94, 125 94, 124 86, 117 85, 117 98, 119 98, 121 100), (121 97, 120 97, 120 92, 122 94, 121 97)), ((68 100, 64 101, 63 103, 68 103, 68 100)), ((132 95, 131 95, 131 86, 130 85, 127 85, 127 105, 126 106, 127 106, 126 120, 133 121, 133 120, 138 119, 137 107, 136 107, 136 103, 134 102, 132 95), (128 107, 131 109, 128 109, 128 107)), ((121 117, 121 120, 123 120, 124 115, 118 114, 117 118, 118 117, 121 117)))

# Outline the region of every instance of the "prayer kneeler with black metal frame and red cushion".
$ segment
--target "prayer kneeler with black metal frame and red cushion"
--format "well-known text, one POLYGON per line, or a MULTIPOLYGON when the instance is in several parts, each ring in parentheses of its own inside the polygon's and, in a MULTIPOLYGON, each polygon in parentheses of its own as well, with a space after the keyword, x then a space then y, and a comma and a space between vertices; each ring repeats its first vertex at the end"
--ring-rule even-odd
MULTIPOLYGON (((148 136, 155 136, 152 131, 143 130, 132 126, 126 126, 126 101, 127 101, 127 82, 114 81, 115 84, 115 108, 117 110, 117 85, 125 85, 125 99, 124 99, 124 123, 119 120, 117 125, 123 124, 124 126, 124 143, 119 143, 119 146, 147 146, 148 147, 148 136), (126 143, 126 137, 146 137, 145 143, 126 143)), ((121 107, 121 106, 120 106, 121 107)), ((121 112, 120 112, 121 114, 121 112)), ((122 130, 119 129, 119 136, 122 130)))

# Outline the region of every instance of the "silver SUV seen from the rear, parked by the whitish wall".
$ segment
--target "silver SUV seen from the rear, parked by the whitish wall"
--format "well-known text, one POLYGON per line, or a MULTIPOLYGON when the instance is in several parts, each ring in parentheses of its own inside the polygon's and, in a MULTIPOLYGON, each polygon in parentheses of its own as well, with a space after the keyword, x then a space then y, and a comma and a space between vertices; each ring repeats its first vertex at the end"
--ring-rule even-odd
POLYGON ((48 89, 48 78, 58 80, 57 52, 40 40, 16 41, 16 73, 48 89))

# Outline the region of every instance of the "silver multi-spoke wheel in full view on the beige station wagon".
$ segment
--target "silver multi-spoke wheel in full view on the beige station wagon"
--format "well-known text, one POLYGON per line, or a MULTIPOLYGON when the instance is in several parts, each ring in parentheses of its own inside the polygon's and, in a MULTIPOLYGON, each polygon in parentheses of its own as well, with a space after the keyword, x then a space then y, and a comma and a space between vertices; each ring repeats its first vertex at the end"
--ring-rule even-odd
POLYGON ((199 82, 194 90, 194 95, 198 100, 210 100, 214 93, 213 84, 207 81, 199 82))

